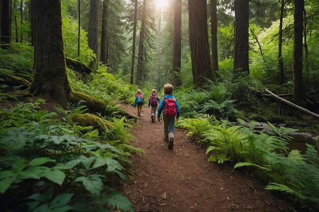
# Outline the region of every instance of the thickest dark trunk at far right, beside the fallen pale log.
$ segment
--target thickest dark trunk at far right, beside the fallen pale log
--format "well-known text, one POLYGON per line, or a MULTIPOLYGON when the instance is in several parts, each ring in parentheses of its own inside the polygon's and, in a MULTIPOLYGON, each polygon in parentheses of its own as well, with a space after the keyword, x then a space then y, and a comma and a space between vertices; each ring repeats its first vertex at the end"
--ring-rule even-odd
POLYGON ((303 10, 304 10, 304 0, 295 0, 293 103, 301 107, 305 107, 307 103, 306 89, 303 84, 303 74, 302 74, 303 10))

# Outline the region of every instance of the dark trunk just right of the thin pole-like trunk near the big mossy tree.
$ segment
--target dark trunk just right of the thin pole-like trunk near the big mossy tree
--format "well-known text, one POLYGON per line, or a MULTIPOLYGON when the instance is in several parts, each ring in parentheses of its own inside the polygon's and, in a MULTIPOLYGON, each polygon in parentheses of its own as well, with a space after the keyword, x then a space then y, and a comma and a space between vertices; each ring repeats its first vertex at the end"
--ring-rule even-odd
POLYGON ((97 69, 97 56, 98 56, 98 9, 99 0, 90 1, 90 21, 88 32, 88 45, 96 54, 95 62, 93 63, 94 69, 97 69))

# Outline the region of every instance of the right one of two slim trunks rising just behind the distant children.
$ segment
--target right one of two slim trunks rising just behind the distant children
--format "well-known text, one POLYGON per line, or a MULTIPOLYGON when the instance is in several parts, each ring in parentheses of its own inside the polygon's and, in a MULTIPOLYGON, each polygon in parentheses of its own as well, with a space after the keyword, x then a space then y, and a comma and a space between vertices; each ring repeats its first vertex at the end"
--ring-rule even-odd
POLYGON ((140 43, 139 43, 139 56, 138 56, 138 66, 136 70, 136 82, 139 85, 143 81, 144 77, 144 35, 145 35, 145 21, 146 21, 146 0, 143 0, 142 9, 142 24, 140 31, 140 43))

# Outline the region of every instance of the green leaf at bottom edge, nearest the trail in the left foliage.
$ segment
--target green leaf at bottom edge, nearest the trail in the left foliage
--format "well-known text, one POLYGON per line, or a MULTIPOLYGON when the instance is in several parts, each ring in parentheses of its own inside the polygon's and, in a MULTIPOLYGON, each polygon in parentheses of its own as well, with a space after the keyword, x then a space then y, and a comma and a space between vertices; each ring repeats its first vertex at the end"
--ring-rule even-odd
POLYGON ((133 206, 130 201, 118 191, 113 192, 107 198, 107 203, 108 205, 112 205, 123 211, 134 212, 133 206))

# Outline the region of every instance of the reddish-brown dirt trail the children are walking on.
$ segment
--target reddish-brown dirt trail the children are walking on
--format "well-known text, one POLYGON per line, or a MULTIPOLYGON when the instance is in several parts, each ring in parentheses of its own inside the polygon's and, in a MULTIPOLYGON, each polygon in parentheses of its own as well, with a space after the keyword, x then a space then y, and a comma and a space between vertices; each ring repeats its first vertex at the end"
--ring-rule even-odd
MULTIPOLYGON (((137 113, 132 106, 121 107, 137 113)), ((280 211, 273 203, 283 207, 245 173, 207 162, 205 149, 184 131, 175 128, 174 148, 168 149, 163 122, 152 123, 149 111, 143 107, 131 141, 145 149, 142 158, 133 159, 135 175, 124 191, 135 211, 280 211)))

